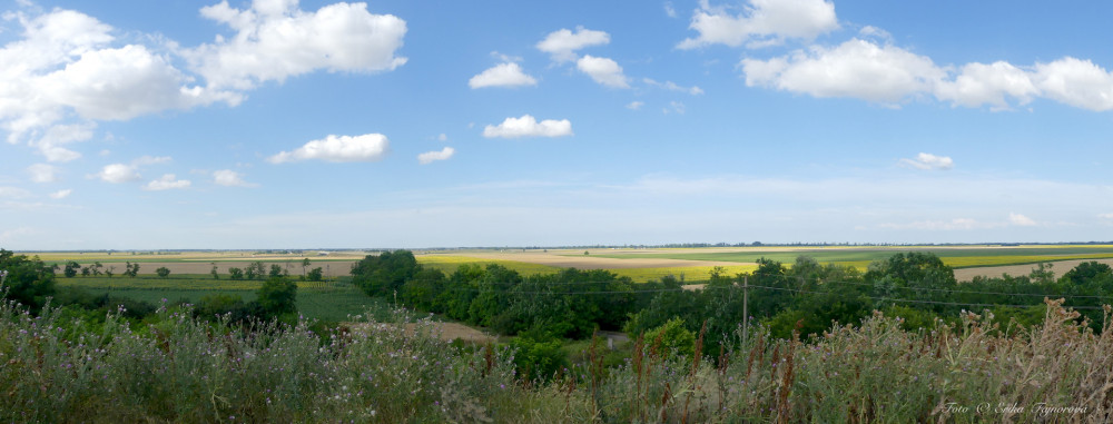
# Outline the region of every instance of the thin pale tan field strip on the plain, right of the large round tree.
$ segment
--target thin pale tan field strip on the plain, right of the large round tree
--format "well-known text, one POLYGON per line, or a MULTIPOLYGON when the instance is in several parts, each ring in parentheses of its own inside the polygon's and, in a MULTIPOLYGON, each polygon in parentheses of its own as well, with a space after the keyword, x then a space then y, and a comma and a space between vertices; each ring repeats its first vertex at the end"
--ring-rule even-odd
MULTIPOLYGON (((589 249, 590 250, 590 249, 589 249)), ((687 266, 739 266, 754 265, 752 263, 721 262, 721 260, 687 260, 687 259, 660 259, 660 258, 601 258, 590 255, 582 255, 583 250, 578 250, 581 256, 562 256, 573 254, 575 250, 550 250, 543 252, 506 252, 506 253, 452 253, 452 256, 466 256, 476 259, 487 260, 518 260, 531 264, 549 265, 560 268, 578 269, 620 269, 620 268, 679 268, 687 266)), ((631 250, 595 250, 597 254, 607 253, 630 253, 631 250)), ((637 250, 643 252, 643 250, 637 250)), ((436 257, 437 255, 424 255, 436 257)))

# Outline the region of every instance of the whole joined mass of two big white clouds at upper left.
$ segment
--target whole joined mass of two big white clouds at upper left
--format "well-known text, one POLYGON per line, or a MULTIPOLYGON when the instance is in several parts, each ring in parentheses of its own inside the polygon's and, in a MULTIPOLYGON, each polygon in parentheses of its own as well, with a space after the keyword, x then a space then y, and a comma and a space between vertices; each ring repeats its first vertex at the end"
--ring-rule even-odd
POLYGON ((22 31, 0 46, 0 130, 51 162, 81 157, 67 145, 92 138, 97 121, 236 106, 244 90, 266 81, 317 70, 386 71, 405 62, 395 55, 405 21, 371 13, 365 3, 311 12, 296 0, 259 0, 246 9, 221 1, 201 16, 234 33, 197 47, 158 36, 119 42, 118 30, 85 13, 22 7, 4 14, 22 31))

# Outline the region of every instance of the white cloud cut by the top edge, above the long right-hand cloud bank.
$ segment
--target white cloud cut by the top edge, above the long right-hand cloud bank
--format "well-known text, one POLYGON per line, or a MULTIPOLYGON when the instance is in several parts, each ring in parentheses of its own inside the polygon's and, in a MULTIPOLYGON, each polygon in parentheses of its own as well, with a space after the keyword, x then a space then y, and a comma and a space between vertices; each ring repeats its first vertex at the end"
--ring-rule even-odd
POLYGON ((677 45, 695 49, 721 43, 756 48, 779 45, 785 39, 812 39, 838 29, 835 4, 824 0, 750 0, 739 14, 727 8, 700 2, 689 28, 699 32, 677 45))

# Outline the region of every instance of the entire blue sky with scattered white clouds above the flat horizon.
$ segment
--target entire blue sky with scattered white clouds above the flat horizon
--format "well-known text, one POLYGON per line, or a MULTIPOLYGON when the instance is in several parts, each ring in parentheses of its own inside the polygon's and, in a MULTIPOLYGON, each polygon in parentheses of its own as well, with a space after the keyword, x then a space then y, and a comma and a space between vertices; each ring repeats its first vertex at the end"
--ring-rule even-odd
POLYGON ((1113 13, 0 2, 9 249, 1113 239, 1113 13))

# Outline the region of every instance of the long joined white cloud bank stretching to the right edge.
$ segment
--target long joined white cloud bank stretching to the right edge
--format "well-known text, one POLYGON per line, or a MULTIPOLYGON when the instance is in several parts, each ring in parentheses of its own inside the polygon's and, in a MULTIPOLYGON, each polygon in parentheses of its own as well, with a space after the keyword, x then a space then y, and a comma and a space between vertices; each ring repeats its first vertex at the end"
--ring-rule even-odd
MULTIPOLYGON (((884 32, 873 27, 863 31, 884 32)), ((938 66, 887 42, 855 38, 834 48, 812 46, 770 59, 742 59, 740 67, 750 87, 894 107, 910 98, 934 97, 955 107, 986 106, 997 111, 1044 98, 1081 109, 1113 110, 1113 72, 1072 57, 1032 66, 1006 61, 938 66)))

